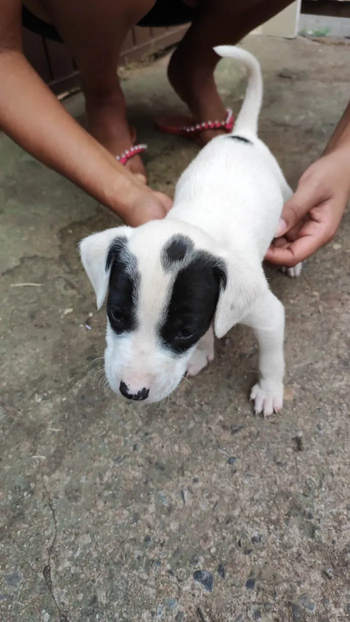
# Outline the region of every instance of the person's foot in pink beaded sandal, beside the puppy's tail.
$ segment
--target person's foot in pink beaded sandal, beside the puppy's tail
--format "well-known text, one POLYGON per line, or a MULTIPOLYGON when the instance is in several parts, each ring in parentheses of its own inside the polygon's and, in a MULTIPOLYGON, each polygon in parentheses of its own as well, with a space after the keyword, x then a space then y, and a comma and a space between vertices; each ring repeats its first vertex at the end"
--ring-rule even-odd
MULTIPOLYGON (((170 58, 168 80, 180 99, 187 104, 195 123, 223 121, 226 118, 226 109, 216 89, 213 73, 205 67, 191 67, 181 45, 170 58)), ((224 129, 207 129, 198 134, 195 140, 203 147, 215 136, 225 133, 224 129)))

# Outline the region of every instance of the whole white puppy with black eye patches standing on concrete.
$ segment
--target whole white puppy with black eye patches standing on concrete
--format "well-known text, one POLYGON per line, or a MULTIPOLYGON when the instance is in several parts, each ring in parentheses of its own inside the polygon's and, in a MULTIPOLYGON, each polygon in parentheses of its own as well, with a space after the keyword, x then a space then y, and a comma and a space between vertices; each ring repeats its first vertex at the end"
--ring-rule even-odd
POLYGON ((163 399, 184 374, 195 376, 213 360, 214 334, 242 323, 259 342, 251 399, 266 416, 283 404, 284 309, 262 261, 292 190, 257 137, 259 63, 237 47, 215 51, 240 60, 249 74, 233 133, 214 138, 183 172, 164 220, 94 233, 80 254, 98 309, 108 294, 104 360, 114 392, 163 399))

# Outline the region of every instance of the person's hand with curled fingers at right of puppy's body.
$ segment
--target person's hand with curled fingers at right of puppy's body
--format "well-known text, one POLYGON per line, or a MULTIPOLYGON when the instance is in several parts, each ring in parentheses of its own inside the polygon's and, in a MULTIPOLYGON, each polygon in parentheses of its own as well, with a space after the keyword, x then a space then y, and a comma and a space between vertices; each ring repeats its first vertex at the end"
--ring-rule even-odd
POLYGON ((350 196, 350 148, 334 149, 300 178, 283 207, 276 238, 265 259, 292 267, 310 257, 336 234, 350 196))

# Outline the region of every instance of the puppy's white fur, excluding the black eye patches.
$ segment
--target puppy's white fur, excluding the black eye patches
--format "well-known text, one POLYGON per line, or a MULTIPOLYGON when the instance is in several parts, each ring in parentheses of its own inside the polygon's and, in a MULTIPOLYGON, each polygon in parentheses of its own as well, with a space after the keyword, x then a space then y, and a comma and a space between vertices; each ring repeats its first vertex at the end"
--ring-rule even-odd
MULTIPOLYGON (((197 346, 174 357, 162 348, 155 327, 162 316, 172 274, 162 269, 165 242, 175 233, 193 240, 223 260, 228 282, 221 287, 214 315, 214 333, 223 337, 237 323, 254 329, 259 342, 259 383, 251 399, 256 413, 270 415, 283 404, 283 305, 270 292, 262 261, 274 238, 283 203, 292 190, 271 152, 257 137, 262 102, 260 65, 249 52, 221 46, 223 57, 240 60, 247 68, 246 98, 233 135, 219 136, 204 147, 178 180, 172 210, 163 221, 152 221, 136 230, 119 227, 96 233, 80 244, 83 266, 96 292, 98 307, 106 297, 110 244, 124 235, 137 258, 140 271, 137 330, 117 336, 107 328, 106 375, 119 392, 121 379, 137 392, 148 387, 147 401, 157 401, 175 389, 185 371, 195 375, 214 358, 213 330, 197 346)), ((297 276, 300 269, 290 271, 297 276)))

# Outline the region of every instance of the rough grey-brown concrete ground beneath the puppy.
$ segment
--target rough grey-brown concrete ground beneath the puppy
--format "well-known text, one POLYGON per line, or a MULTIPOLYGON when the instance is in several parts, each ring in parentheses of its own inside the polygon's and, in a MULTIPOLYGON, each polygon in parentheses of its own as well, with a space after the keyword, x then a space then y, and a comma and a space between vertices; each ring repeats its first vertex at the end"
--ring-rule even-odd
MULTIPOLYGON (((246 45, 264 71, 260 134, 295 185, 349 99, 350 49, 246 45)), ((124 88, 150 183, 172 193, 196 147, 152 129, 182 108, 165 65, 124 88)), ((241 68, 222 62, 218 83, 237 111, 241 68)), ((81 96, 67 105, 81 114, 81 96)), ((349 215, 299 281, 269 271, 287 310, 280 415, 252 414, 241 327, 178 397, 145 408, 99 383, 104 313, 76 251, 116 217, 4 136, 0 175, 0 619, 349 620, 349 215)))

